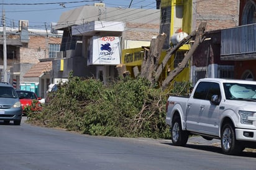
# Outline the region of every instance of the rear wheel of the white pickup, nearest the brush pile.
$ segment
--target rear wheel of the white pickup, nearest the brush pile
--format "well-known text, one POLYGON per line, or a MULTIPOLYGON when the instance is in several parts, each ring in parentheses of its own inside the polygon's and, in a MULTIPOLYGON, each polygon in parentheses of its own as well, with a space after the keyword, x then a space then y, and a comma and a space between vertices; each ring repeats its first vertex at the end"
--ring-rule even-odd
POLYGON ((175 117, 171 124, 171 141, 175 146, 185 146, 188 141, 188 133, 182 130, 179 117, 175 117))

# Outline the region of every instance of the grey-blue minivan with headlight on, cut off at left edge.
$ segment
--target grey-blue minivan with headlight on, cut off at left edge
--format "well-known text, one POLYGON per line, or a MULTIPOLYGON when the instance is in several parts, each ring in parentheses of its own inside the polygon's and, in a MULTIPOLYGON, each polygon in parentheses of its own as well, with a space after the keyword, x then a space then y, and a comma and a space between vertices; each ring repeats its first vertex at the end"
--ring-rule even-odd
POLYGON ((0 83, 0 120, 21 125, 22 107, 15 89, 6 83, 0 83))

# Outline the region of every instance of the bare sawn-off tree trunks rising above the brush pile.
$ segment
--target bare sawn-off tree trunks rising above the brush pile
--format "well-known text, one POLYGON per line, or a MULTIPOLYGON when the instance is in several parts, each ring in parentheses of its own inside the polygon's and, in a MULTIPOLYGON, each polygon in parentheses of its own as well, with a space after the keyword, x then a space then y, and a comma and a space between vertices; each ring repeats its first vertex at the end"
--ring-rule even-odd
POLYGON ((206 22, 201 22, 201 24, 198 27, 198 30, 194 30, 191 32, 190 35, 188 35, 186 38, 183 38, 181 42, 179 42, 175 47, 170 48, 170 50, 167 51, 167 54, 163 58, 162 63, 158 65, 160 60, 160 55, 162 53, 163 43, 165 42, 166 35, 158 35, 157 38, 153 38, 151 41, 150 49, 145 49, 144 53, 144 60, 142 60, 142 66, 141 66, 141 73, 140 76, 143 78, 146 78, 150 81, 151 86, 154 86, 155 83, 159 80, 163 69, 167 65, 168 60, 170 60, 171 55, 175 53, 176 50, 178 50, 182 45, 184 45, 188 40, 195 37, 193 46, 188 51, 188 53, 185 55, 183 61, 181 61, 181 64, 173 69, 173 71, 170 72, 170 74, 163 80, 162 82, 162 88, 166 89, 169 85, 169 83, 177 76, 186 66, 186 63, 188 63, 188 60, 190 60, 191 56, 193 55, 196 48, 198 48, 198 45, 202 42, 202 37, 204 34, 204 30, 206 29, 206 22))

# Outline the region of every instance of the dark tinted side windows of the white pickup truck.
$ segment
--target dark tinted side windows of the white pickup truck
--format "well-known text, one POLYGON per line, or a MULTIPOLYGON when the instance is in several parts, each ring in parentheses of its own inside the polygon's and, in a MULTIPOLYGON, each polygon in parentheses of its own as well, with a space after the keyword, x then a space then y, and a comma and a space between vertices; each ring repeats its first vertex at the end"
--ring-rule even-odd
POLYGON ((211 101, 213 95, 221 96, 219 84, 211 82, 201 82, 194 91, 194 99, 203 99, 211 101))

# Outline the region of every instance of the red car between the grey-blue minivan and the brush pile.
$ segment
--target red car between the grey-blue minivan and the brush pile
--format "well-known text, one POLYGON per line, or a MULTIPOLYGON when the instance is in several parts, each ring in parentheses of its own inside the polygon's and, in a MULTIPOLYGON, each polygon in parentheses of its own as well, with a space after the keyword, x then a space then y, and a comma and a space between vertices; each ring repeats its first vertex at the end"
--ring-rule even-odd
POLYGON ((37 94, 35 94, 35 92, 32 91, 23 91, 23 90, 16 90, 19 99, 21 101, 21 106, 22 106, 22 114, 26 115, 25 112, 25 107, 30 107, 32 106, 33 101, 37 101, 35 108, 32 108, 34 110, 39 110, 40 107, 40 97, 37 97, 37 94))

